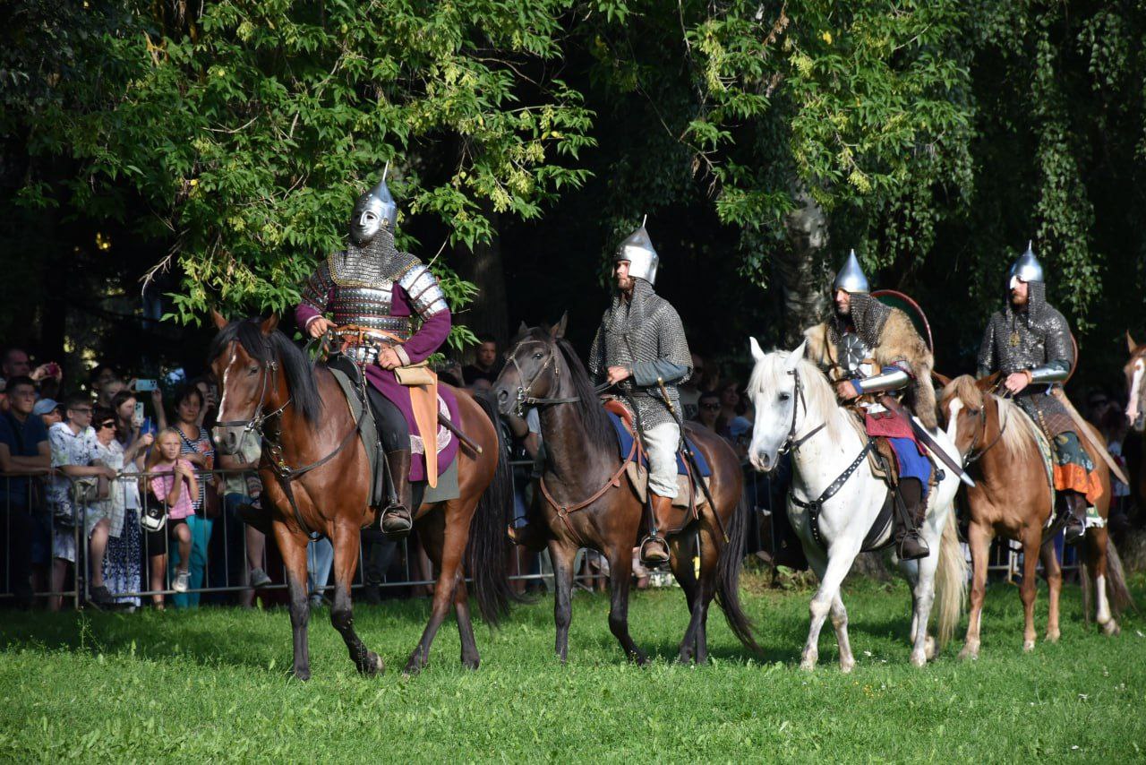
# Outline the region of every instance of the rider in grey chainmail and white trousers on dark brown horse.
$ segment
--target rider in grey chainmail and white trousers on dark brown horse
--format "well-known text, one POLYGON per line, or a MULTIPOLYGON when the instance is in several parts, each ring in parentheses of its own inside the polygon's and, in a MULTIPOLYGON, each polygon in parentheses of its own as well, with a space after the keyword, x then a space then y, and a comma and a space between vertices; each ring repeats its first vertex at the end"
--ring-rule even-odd
POLYGON ((681 444, 681 428, 673 412, 681 411, 676 387, 692 374, 692 354, 681 317, 653 291, 659 265, 644 226, 621 242, 613 257, 617 292, 589 351, 589 373, 617 385, 636 408, 641 443, 649 455, 653 517, 649 534, 641 540, 645 565, 668 561, 668 544, 661 532, 668 531, 676 497, 676 452, 681 444))

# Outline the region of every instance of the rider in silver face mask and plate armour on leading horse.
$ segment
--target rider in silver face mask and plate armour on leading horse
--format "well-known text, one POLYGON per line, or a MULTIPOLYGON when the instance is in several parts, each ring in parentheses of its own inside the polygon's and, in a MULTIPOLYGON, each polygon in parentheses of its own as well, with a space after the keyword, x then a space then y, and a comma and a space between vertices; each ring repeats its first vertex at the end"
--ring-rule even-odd
POLYGON ((298 326, 311 337, 336 330, 343 356, 362 369, 374 389, 370 398, 394 490, 393 500, 382 510, 380 525, 387 534, 410 530, 410 481, 424 476, 422 455, 433 459, 437 451, 432 448, 434 435, 418 437, 409 390, 398 383, 394 369, 437 351, 452 323, 437 278, 418 258, 394 248, 397 216, 398 205, 383 172, 378 185, 354 205, 350 244, 311 275, 295 310, 298 326), (411 459, 411 444, 421 447, 417 460, 411 459))

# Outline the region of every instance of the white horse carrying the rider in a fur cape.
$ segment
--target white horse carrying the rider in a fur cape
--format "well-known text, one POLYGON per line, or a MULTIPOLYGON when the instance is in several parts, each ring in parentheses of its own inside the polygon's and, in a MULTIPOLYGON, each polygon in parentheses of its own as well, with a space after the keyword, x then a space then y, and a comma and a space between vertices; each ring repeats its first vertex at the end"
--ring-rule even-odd
MULTIPOLYGON (((755 368, 748 382, 748 396, 756 409, 756 422, 748 456, 754 468, 768 471, 776 467, 780 453, 791 448, 788 518, 800 534, 808 562, 819 577, 819 588, 811 599, 811 626, 800 668, 811 670, 816 666, 819 631, 831 614, 840 647, 840 670, 849 672, 855 666, 855 657, 848 641, 848 612, 840 599, 840 584, 879 517, 887 486, 872 476, 864 463, 866 458, 853 467, 865 442, 848 422, 851 415, 837 404, 827 377, 803 358, 804 344, 791 353, 775 351, 768 354, 760 350, 755 337, 751 338, 751 345, 755 368), (845 474, 848 475, 845 477, 845 474), (842 485, 839 485, 841 478, 842 485), (804 506, 823 497, 833 483, 837 491, 824 499, 817 528, 813 528, 804 506), (817 542, 817 536, 824 546, 817 542)), ((935 430, 932 437, 948 454, 959 459, 947 434, 935 430)), ((929 493, 927 517, 919 530, 931 554, 918 561, 898 562, 911 584, 911 663, 916 666, 924 666, 935 654, 935 641, 927 634, 927 619, 936 596, 936 584, 940 647, 955 631, 966 592, 967 564, 956 536, 952 509, 959 481, 951 470, 944 473, 929 493)), ((890 534, 889 526, 877 544, 887 542, 890 534)))

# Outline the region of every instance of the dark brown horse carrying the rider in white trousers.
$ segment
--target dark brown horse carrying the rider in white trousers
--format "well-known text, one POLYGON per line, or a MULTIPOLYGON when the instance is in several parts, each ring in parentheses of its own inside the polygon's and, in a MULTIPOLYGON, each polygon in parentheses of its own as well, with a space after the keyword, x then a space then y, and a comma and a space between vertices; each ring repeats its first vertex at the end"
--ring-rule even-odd
MULTIPOLYGON (((609 560, 609 629, 629 661, 645 664, 647 656, 633 641, 628 626, 633 548, 646 526, 644 505, 623 475, 613 426, 564 337, 565 326, 565 318, 549 330, 523 326, 493 391, 502 414, 513 412, 519 397, 539 407, 547 455, 539 486, 548 499, 539 502, 542 517, 531 522, 541 528, 552 559, 558 658, 564 662, 568 654, 573 560, 579 548, 588 547, 609 560)), ((748 648, 759 648, 739 599, 748 514, 741 502, 740 466, 732 447, 716 434, 686 428, 712 468, 709 490, 715 507, 701 505, 699 520, 684 508, 674 508, 678 523, 662 533, 668 531, 669 565, 691 615, 677 659, 704 664, 708 661, 708 606, 714 596, 736 637, 748 648), (699 578, 693 556, 700 559, 699 578)))

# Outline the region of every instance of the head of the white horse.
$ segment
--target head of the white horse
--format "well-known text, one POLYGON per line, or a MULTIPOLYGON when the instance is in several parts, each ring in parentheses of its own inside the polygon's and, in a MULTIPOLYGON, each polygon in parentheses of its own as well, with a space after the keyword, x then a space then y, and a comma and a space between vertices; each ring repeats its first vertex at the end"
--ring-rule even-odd
MULTIPOLYGON (((791 353, 764 353, 755 337, 748 338, 755 366, 748 380, 748 397, 756 411, 752 429, 748 460, 756 470, 769 471, 779 462, 780 453, 801 426, 800 367, 807 341, 791 353)), ((808 413, 803 407, 803 415, 808 413)))

